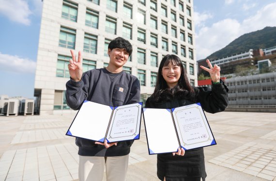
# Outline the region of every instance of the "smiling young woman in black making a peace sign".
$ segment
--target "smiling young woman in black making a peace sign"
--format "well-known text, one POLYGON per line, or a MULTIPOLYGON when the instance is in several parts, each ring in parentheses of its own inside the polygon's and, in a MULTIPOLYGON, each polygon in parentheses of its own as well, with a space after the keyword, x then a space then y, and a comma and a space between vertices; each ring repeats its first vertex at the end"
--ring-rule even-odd
MULTIPOLYGON (((220 67, 213 67, 209 60, 207 63, 210 69, 200 67, 210 73, 212 89, 192 87, 179 57, 166 55, 159 66, 154 92, 145 106, 174 108, 199 102, 207 112, 223 111, 228 106, 228 89, 220 79, 220 67)), ((203 148, 158 154, 157 176, 161 181, 200 181, 201 178, 205 181, 203 148)))

